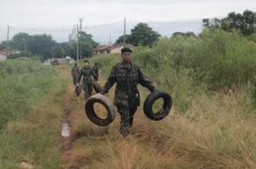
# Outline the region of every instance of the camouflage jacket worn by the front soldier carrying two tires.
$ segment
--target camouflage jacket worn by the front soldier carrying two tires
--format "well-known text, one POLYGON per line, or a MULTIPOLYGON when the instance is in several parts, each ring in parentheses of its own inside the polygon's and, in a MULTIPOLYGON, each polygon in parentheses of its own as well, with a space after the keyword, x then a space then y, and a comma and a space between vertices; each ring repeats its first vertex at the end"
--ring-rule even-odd
POLYGON ((118 63, 112 67, 110 77, 104 86, 103 93, 107 93, 113 84, 117 84, 115 90, 114 104, 117 106, 125 106, 129 103, 139 105, 139 92, 137 84, 141 84, 150 91, 154 91, 155 87, 149 80, 144 78, 144 74, 135 64, 127 64, 125 62, 118 63), (137 97, 136 102, 133 98, 137 97))

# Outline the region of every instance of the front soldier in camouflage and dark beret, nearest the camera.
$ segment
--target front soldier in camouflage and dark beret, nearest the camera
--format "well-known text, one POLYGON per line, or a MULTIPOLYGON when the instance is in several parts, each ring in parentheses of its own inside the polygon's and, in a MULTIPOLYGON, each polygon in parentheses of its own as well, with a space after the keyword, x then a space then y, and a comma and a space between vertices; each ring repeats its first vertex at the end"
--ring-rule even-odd
POLYGON ((144 78, 140 68, 131 62, 131 49, 124 47, 121 49, 123 61, 112 67, 110 77, 104 86, 101 94, 106 94, 113 84, 117 84, 115 90, 114 104, 121 115, 120 133, 126 137, 129 135, 133 116, 139 105, 139 92, 137 84, 141 84, 150 91, 155 90, 155 86, 144 78))

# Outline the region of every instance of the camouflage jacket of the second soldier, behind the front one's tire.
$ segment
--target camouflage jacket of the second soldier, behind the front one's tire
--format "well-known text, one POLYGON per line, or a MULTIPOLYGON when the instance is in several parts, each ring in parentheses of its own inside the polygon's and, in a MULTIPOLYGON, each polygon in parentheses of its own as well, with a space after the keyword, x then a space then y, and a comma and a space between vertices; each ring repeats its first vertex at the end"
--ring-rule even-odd
POLYGON ((80 73, 78 75, 78 78, 76 80, 76 83, 79 84, 80 83, 80 79, 83 77, 83 83, 93 83, 93 79, 92 76, 94 78, 96 78, 95 73, 93 72, 91 66, 85 66, 80 70, 80 73))

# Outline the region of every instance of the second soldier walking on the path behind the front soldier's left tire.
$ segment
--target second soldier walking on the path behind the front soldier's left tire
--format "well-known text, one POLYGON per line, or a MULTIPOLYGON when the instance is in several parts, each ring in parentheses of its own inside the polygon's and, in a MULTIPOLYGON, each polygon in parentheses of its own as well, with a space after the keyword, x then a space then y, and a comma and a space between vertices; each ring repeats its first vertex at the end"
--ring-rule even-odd
POLYGON ((77 78, 77 85, 80 84, 80 79, 83 77, 83 84, 84 84, 84 91, 85 91, 85 98, 91 97, 93 91, 93 78, 96 77, 94 74, 90 63, 88 60, 84 60, 84 67, 80 70, 79 76, 77 78))

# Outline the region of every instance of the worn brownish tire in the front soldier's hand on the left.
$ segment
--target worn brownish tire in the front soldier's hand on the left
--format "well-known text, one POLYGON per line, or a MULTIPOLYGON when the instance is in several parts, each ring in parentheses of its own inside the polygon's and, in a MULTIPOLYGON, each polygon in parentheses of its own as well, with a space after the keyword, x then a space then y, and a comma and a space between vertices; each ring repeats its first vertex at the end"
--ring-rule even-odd
POLYGON ((94 124, 98 126, 107 126, 110 123, 113 122, 116 116, 116 107, 112 104, 109 98, 105 97, 102 94, 96 94, 93 95, 92 97, 89 97, 86 101, 85 105, 85 110, 86 110, 86 116, 88 119, 93 122, 94 124), (107 110, 107 116, 106 119, 102 119, 99 116, 96 115, 94 109, 93 109, 93 104, 94 103, 101 103, 104 105, 104 107, 107 110))

